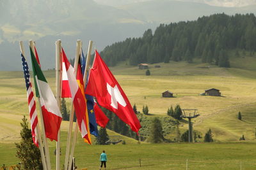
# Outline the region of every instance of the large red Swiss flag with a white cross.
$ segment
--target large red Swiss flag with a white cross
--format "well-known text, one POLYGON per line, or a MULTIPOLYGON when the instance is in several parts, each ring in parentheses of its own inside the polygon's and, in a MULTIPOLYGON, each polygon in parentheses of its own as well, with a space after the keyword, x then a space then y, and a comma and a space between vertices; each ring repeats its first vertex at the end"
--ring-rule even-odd
POLYGON ((140 130, 140 121, 124 91, 116 81, 108 66, 95 51, 95 59, 88 79, 85 94, 94 96, 100 106, 113 111, 132 131, 140 130))

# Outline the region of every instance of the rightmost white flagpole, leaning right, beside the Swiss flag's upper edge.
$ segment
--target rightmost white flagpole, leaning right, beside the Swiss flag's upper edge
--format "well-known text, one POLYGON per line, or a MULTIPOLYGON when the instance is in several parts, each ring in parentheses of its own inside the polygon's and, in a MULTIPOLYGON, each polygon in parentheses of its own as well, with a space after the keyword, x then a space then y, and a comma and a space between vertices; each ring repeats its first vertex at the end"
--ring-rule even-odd
MULTIPOLYGON (((90 64, 90 57, 91 57, 91 51, 92 51, 92 43, 93 43, 93 41, 89 41, 88 53, 87 53, 87 57, 86 57, 86 65, 85 65, 85 70, 84 70, 84 78, 83 78, 83 80, 84 80, 84 87, 86 85, 87 71, 89 69, 89 64, 90 64)), ((81 46, 80 46, 80 52, 81 52, 81 46)), ((73 138, 71 153, 70 153, 70 157, 69 157, 69 161, 70 162, 72 161, 72 157, 74 155, 74 150, 75 150, 75 145, 76 145, 76 138, 77 138, 77 132, 78 132, 78 123, 76 121, 76 128, 75 128, 75 131, 74 131, 74 138, 73 138)), ((90 133, 90 131, 88 133, 90 133)), ((71 169, 71 165, 70 166, 68 165, 68 170, 70 170, 70 169, 71 169)))

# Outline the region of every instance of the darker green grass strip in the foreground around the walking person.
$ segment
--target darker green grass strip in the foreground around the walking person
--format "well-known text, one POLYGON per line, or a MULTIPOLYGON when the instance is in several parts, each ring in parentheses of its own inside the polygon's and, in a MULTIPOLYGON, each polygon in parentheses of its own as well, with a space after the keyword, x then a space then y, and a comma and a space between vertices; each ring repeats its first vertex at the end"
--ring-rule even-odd
MULTIPOLYGON (((65 150, 61 145, 61 165, 65 150)), ((170 143, 170 144, 127 144, 92 145, 79 139, 76 144, 76 165, 79 168, 99 168, 102 150, 108 154, 108 169, 255 169, 255 143, 170 143), (141 160, 141 167, 140 167, 141 160)), ((1 164, 12 165, 15 159, 13 144, 0 145, 1 164), (6 150, 8 147, 8 150, 6 150)), ((54 146, 50 146, 52 169, 55 167, 54 146)))

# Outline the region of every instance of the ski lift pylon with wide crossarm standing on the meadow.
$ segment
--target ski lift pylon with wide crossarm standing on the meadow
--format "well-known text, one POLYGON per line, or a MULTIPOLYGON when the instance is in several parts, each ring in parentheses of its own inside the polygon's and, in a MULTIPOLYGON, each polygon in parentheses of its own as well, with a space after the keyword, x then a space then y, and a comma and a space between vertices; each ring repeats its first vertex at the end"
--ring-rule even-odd
POLYGON ((193 142, 193 125, 192 125, 191 119, 196 118, 200 115, 197 114, 197 109, 182 110, 182 113, 183 114, 180 117, 188 118, 188 142, 192 143, 193 142))

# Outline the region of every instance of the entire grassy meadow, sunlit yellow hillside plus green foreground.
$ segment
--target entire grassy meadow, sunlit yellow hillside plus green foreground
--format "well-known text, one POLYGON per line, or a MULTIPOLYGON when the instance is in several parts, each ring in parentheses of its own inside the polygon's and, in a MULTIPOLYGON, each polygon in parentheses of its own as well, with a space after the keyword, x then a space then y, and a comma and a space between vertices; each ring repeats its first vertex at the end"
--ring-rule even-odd
MULTIPOLYGON (((150 115, 166 116, 170 106, 180 104, 182 109, 198 109, 200 116, 193 119, 193 129, 203 135, 209 128, 216 143, 138 144, 123 136, 126 145, 86 145, 77 140, 76 163, 79 168, 99 167, 99 154, 108 153, 109 169, 256 169, 256 58, 239 57, 231 60, 231 68, 209 66, 195 61, 170 62, 150 65, 150 76, 145 70, 127 66, 125 62, 111 71, 122 86, 131 104, 138 111, 147 105, 150 115), (160 68, 155 68, 160 65, 160 68), (220 89, 221 97, 200 96, 206 89, 220 89), (165 90, 172 98, 163 98, 165 90), (241 111, 242 120, 237 119, 241 111), (244 135, 245 141, 239 141, 244 135), (141 159, 141 167, 139 166, 141 159)), ((45 77, 55 92, 54 72, 45 71, 45 77)), ((32 80, 33 81, 33 80, 32 80)), ((70 104, 70 101, 68 101, 70 104)), ((38 104, 37 104, 38 105, 38 104)), ((67 105, 71 108, 70 105, 67 105)), ((28 117, 28 104, 23 73, 0 72, 0 166, 17 164, 15 142, 19 141, 22 115, 28 117)), ((61 164, 65 155, 68 122, 61 123, 61 164)), ((183 132, 186 121, 180 124, 183 132)), ((115 132, 108 131, 109 136, 115 132)), ((170 134, 170 137, 173 133, 170 134)), ((51 162, 54 162, 55 142, 50 142, 51 162)), ((52 167, 54 167, 52 163, 52 167)))

